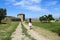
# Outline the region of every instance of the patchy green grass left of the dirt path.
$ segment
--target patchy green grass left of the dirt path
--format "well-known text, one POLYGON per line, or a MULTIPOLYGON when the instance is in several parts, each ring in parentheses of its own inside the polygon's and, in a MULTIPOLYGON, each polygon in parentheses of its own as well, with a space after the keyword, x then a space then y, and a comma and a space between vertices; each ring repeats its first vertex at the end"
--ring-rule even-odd
POLYGON ((11 40, 11 34, 15 31, 18 22, 0 24, 0 40, 11 40))

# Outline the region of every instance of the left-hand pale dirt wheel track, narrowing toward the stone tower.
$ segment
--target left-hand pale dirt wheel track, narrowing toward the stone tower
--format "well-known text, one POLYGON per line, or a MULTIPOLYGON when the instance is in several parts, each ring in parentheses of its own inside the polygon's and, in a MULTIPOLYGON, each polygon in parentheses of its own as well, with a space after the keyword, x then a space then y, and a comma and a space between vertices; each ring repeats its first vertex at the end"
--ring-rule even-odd
POLYGON ((30 40, 25 35, 22 35, 21 23, 19 23, 18 27, 16 28, 16 31, 12 34, 11 37, 11 40, 30 40))

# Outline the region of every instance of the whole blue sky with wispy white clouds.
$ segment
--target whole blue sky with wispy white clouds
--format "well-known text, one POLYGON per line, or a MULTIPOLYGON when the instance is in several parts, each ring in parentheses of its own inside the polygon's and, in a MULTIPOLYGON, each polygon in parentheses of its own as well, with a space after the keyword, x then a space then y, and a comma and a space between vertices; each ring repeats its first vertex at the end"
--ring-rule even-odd
POLYGON ((60 17, 60 0, 0 0, 0 8, 7 9, 8 16, 24 13, 26 18, 39 18, 52 14, 60 17))

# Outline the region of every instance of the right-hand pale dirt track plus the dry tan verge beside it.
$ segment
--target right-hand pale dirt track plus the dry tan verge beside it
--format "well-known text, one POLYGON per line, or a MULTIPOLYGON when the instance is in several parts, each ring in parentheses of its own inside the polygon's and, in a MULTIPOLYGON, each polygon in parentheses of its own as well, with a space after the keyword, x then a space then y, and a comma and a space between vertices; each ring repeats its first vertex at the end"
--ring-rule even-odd
POLYGON ((27 24, 23 24, 27 28, 28 33, 36 40, 60 40, 60 37, 56 33, 39 28, 37 26, 32 26, 33 28, 30 30, 27 24))

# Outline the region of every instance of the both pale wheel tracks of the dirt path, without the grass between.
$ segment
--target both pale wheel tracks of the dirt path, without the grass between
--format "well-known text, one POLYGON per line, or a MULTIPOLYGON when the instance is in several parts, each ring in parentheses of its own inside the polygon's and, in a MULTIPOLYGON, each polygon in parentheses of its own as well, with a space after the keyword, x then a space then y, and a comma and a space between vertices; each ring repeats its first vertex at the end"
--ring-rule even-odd
MULTIPOLYGON (((26 25, 25 23, 23 23, 24 27, 27 29, 27 33, 33 37, 36 40, 51 40, 49 38, 46 38, 43 35, 38 34, 38 32, 36 32, 35 30, 31 29, 28 27, 28 25, 26 25)), ((28 38, 26 35, 23 35, 22 33, 22 25, 21 23, 19 23, 18 27, 16 28, 16 31, 12 34, 12 40, 31 40, 30 38, 28 38)))

